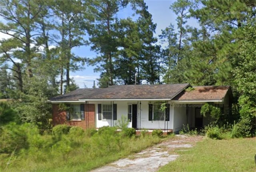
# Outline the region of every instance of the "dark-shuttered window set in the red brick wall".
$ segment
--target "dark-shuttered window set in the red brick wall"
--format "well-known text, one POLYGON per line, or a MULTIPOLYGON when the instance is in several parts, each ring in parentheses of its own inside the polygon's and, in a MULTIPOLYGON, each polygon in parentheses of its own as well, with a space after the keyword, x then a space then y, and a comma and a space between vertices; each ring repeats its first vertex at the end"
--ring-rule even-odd
POLYGON ((84 104, 69 105, 69 111, 67 111, 67 120, 84 120, 84 104))

